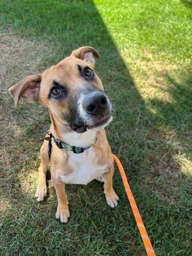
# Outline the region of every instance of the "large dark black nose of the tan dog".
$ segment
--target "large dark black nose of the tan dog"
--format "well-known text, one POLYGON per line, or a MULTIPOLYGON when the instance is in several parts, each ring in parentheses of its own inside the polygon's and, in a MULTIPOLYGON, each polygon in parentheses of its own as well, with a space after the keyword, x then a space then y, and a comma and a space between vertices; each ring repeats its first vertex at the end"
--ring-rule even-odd
POLYGON ((102 115, 108 106, 108 100, 104 94, 97 92, 94 95, 85 96, 83 106, 88 114, 102 115))

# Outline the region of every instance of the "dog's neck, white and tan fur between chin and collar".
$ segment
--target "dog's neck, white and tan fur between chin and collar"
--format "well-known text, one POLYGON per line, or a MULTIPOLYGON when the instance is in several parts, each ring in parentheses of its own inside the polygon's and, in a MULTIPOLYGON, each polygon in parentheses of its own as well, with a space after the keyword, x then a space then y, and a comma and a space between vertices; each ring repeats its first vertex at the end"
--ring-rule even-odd
POLYGON ((99 131, 90 131, 90 132, 74 132, 70 127, 60 123, 58 120, 52 120, 52 125, 50 131, 57 139, 65 142, 71 146, 76 147, 86 147, 94 143, 96 140, 99 131))

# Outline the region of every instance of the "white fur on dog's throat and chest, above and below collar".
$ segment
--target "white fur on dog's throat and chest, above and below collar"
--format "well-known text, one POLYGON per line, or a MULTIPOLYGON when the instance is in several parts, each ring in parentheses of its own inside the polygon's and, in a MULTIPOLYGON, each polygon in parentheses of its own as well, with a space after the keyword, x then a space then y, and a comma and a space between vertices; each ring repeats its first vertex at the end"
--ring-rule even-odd
MULTIPOLYGON (((98 136, 97 134, 96 131, 80 134, 71 132, 63 134, 61 140, 67 142, 69 145, 75 145, 76 147, 86 147, 87 145, 94 143, 98 136)), ((100 157, 98 158, 98 156, 102 155, 100 148, 96 149, 93 146, 84 150, 83 153, 75 154, 69 150, 60 150, 56 145, 53 146, 58 152, 58 162, 60 163, 53 167, 55 171, 52 174, 58 182, 63 182, 65 184, 87 184, 91 180, 102 176, 109 169, 109 162, 103 162, 102 164, 99 162, 100 157), (63 153, 67 154, 67 157, 66 155, 64 156, 63 153)))

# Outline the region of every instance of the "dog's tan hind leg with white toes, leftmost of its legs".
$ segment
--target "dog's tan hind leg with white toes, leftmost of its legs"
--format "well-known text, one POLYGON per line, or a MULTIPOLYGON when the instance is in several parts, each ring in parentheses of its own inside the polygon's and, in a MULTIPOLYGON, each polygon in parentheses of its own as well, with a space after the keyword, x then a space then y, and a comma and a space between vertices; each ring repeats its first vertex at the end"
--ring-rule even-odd
POLYGON ((47 166, 49 164, 48 151, 49 151, 48 141, 44 140, 43 145, 41 147, 41 164, 38 169, 39 181, 38 181, 38 186, 35 193, 35 197, 39 202, 43 201, 44 197, 47 195, 46 172, 47 172, 47 166))

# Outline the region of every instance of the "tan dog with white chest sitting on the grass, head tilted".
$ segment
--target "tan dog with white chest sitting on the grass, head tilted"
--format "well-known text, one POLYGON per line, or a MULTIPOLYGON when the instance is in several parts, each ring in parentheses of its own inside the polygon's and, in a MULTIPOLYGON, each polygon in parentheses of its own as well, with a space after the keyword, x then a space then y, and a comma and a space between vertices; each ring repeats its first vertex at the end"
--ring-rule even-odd
MULTIPOLYGON (((16 106, 22 97, 39 102, 50 111, 50 172, 58 197, 56 218, 61 222, 67 222, 70 216, 65 184, 87 184, 102 177, 107 204, 118 204, 112 187, 114 160, 104 130, 112 120, 112 106, 94 71, 94 57, 100 58, 94 48, 79 48, 56 66, 27 76, 9 89, 16 106)), ((35 194, 38 201, 47 194, 48 144, 44 140, 41 148, 35 194)))

